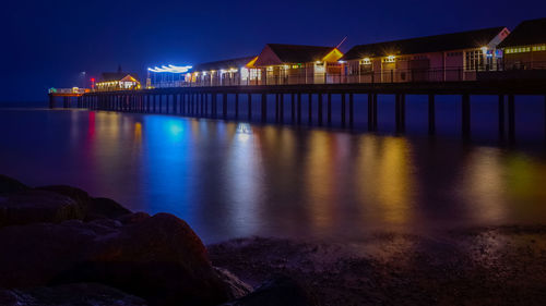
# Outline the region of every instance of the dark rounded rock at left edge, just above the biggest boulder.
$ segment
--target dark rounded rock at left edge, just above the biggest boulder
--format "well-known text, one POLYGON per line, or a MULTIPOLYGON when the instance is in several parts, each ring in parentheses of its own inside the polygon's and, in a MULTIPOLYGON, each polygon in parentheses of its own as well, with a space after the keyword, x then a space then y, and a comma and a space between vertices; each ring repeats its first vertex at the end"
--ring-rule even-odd
POLYGON ((0 228, 36 222, 82 219, 81 207, 70 197, 46 191, 24 191, 0 196, 0 228))

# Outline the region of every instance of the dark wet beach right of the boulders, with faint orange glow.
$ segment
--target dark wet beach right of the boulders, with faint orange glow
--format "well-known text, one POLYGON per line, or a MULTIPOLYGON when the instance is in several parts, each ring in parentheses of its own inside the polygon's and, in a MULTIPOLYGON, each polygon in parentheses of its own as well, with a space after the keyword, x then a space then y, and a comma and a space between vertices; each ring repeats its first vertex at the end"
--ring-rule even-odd
POLYGON ((251 285, 309 284, 322 305, 544 305, 546 225, 373 233, 351 243, 251 237, 209 246, 251 285))

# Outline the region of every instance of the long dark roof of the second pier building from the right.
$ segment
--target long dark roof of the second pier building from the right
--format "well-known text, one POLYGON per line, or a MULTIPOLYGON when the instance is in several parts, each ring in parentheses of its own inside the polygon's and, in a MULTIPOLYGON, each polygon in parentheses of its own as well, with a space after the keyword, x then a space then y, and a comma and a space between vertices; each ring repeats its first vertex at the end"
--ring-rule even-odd
POLYGON ((418 54, 448 50, 470 49, 487 46, 506 27, 490 27, 452 34, 434 35, 353 47, 342 60, 385 57, 395 54, 418 54))

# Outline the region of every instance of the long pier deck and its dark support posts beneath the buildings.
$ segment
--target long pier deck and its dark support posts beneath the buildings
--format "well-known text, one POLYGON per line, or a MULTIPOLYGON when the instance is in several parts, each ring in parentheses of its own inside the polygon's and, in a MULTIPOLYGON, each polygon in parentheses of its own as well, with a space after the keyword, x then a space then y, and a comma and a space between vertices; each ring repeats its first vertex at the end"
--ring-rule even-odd
POLYGON ((94 91, 82 94, 50 93, 50 107, 63 98, 63 108, 86 108, 90 110, 166 113, 193 118, 222 120, 246 120, 259 123, 294 125, 332 125, 333 97, 339 97, 341 127, 353 128, 355 105, 367 106, 367 130, 378 131, 379 95, 392 95, 396 133, 404 133, 406 125, 406 97, 428 97, 428 133, 436 133, 437 96, 460 96, 461 133, 471 138, 472 97, 498 97, 498 132, 500 138, 515 139, 515 96, 544 97, 544 128, 546 133, 546 82, 536 81, 474 81, 446 83, 390 83, 390 84, 298 84, 257 86, 199 86, 170 87, 140 90, 94 91), (357 98, 358 95, 358 98, 357 98), (365 98, 363 98, 365 97, 365 98), (301 100, 307 99, 308 109, 301 100), (246 99, 247 108, 240 107, 246 99), (274 103, 274 114, 268 113, 269 103, 274 103), (259 115, 252 115, 252 108, 259 107, 259 115), (308 112, 308 122, 302 122, 302 112, 308 112), (228 115, 232 114, 232 115, 228 115), (314 121, 313 121, 314 119, 314 121))

